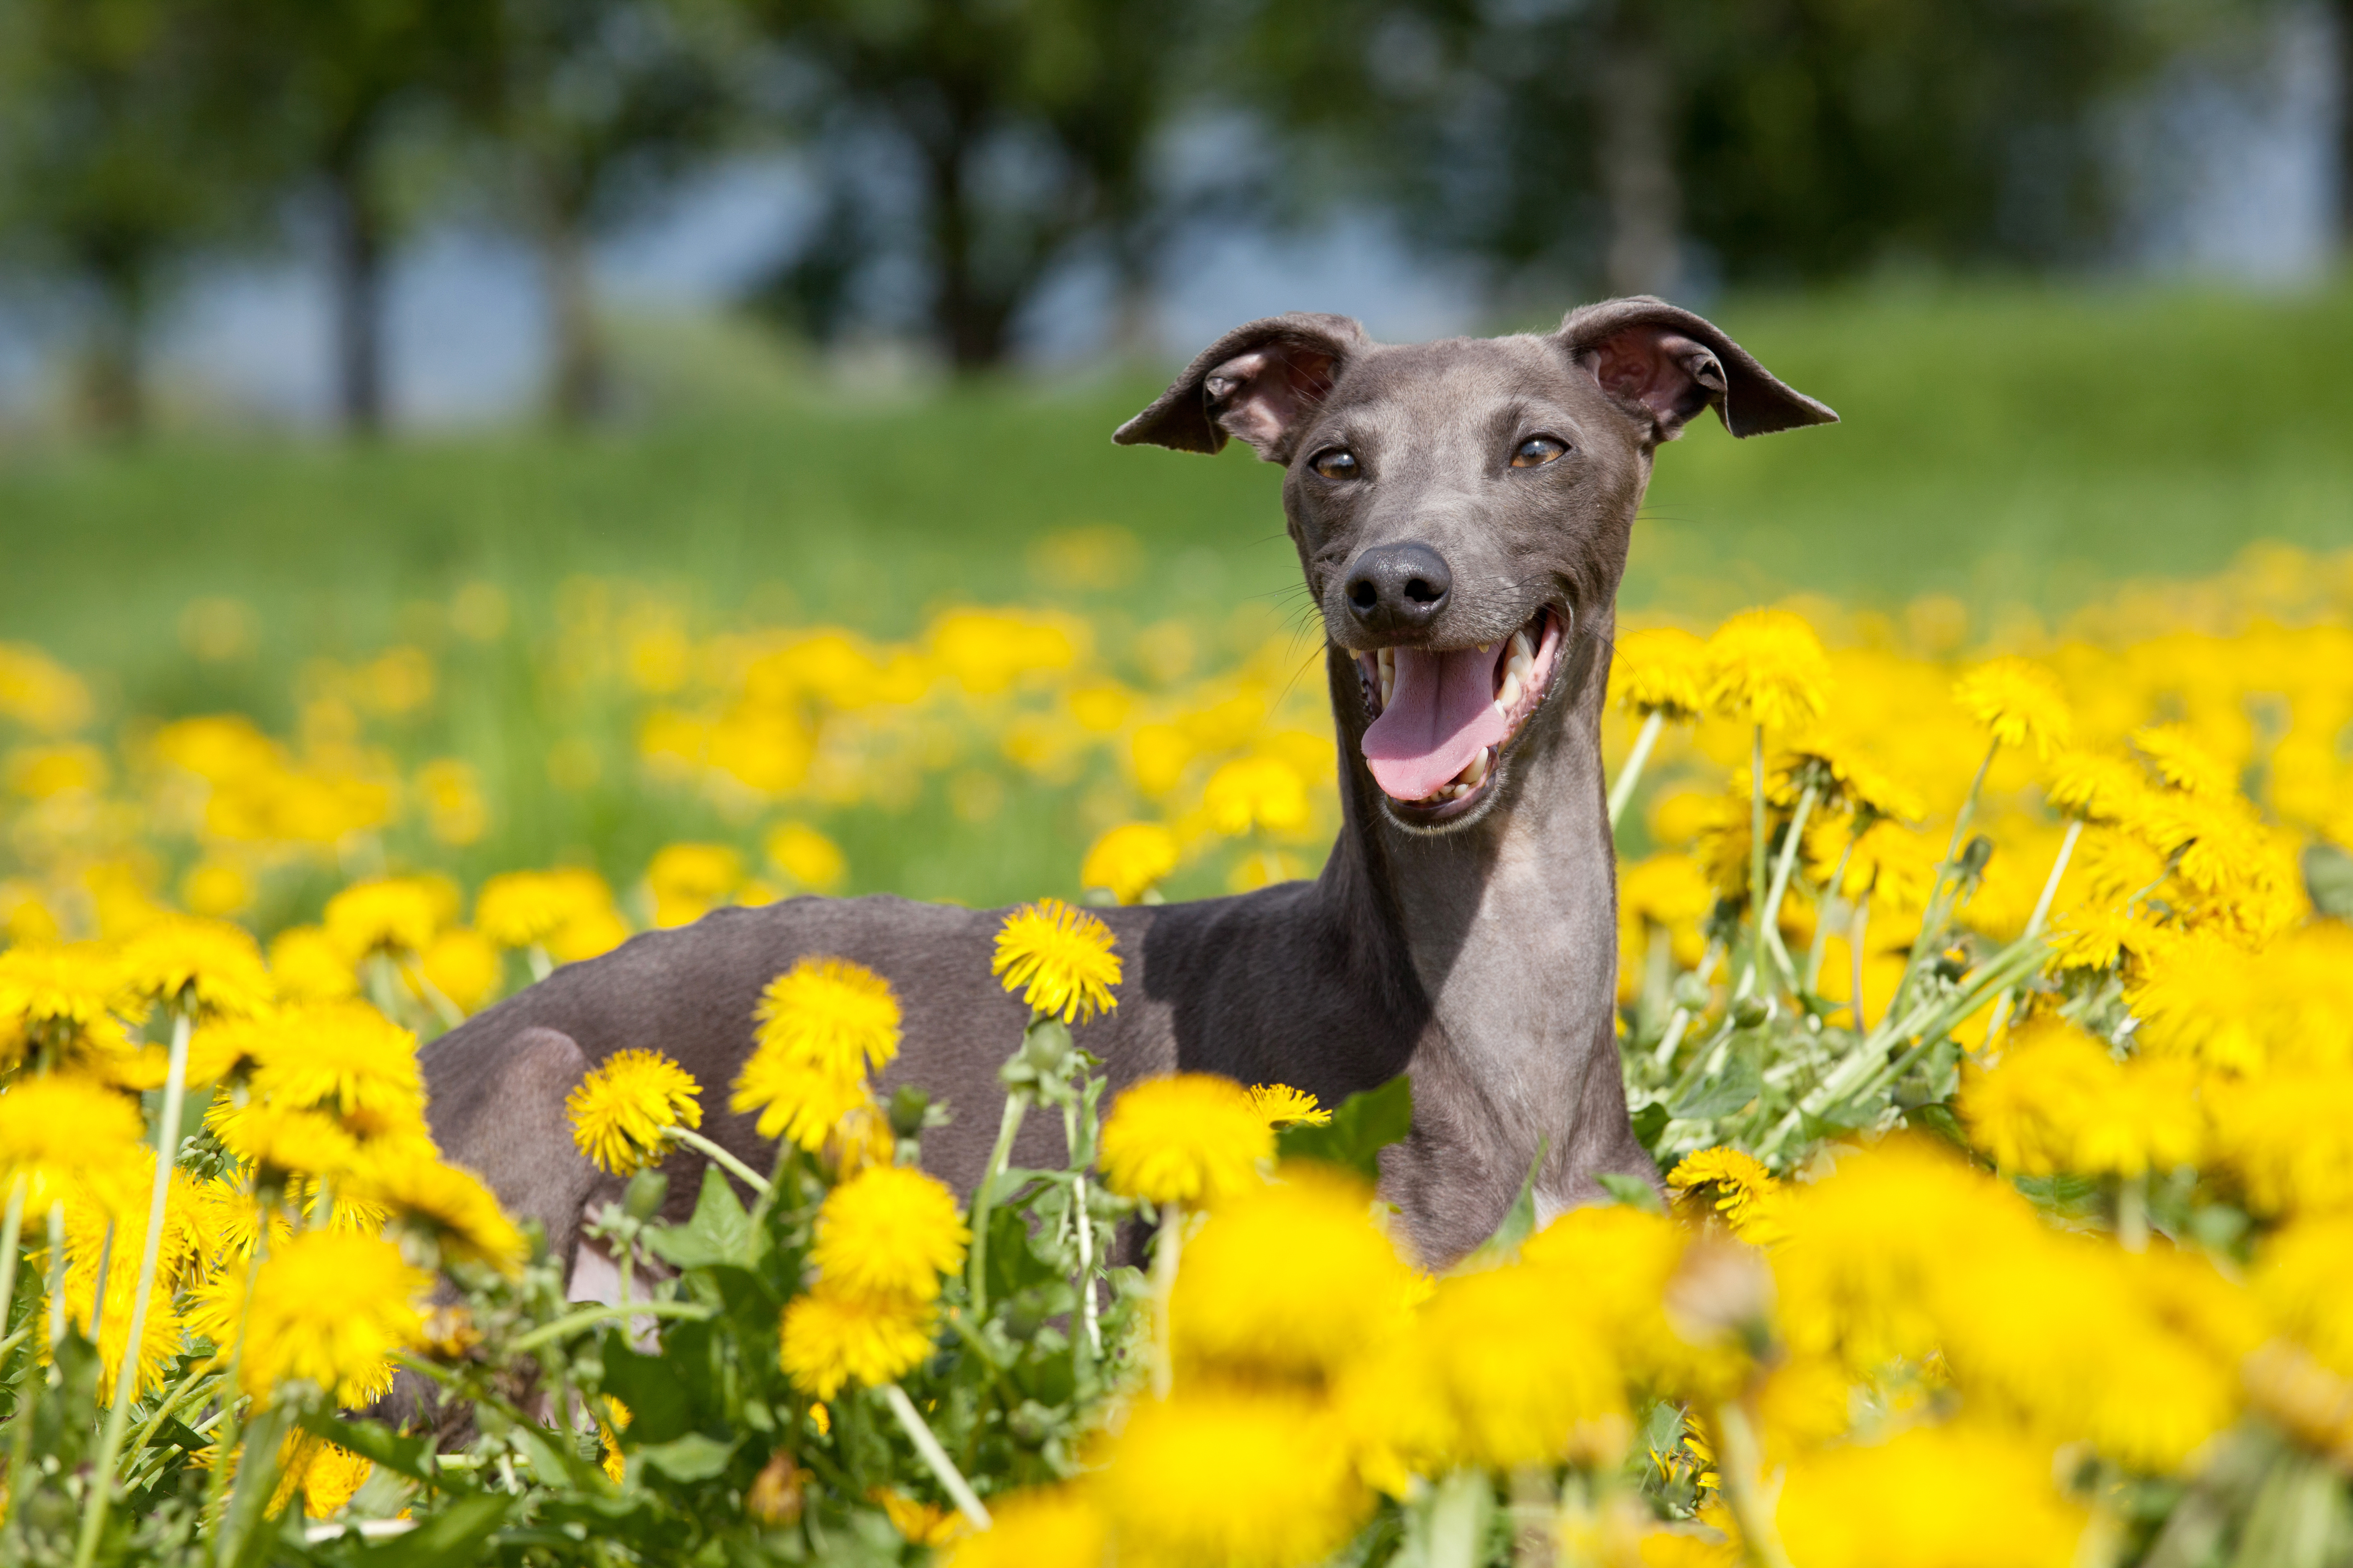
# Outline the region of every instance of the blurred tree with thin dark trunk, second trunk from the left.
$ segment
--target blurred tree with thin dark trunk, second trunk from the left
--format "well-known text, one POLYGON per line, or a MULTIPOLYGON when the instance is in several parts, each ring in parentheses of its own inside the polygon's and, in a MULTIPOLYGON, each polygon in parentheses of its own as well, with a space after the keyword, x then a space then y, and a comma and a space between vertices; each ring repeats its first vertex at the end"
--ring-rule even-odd
POLYGON ((327 209, 336 411, 384 428, 384 275, 421 207, 402 136, 482 113, 496 89, 499 12, 482 0, 207 0, 235 19, 289 193, 327 209))

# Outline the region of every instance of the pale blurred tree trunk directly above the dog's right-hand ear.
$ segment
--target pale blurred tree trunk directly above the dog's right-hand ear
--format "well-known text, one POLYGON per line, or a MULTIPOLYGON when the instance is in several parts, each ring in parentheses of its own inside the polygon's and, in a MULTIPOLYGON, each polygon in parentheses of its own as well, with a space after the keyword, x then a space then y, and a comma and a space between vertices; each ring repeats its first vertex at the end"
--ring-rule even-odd
POLYGON ((1682 186, 1675 179, 1673 78, 1657 24, 1640 0, 1619 0, 1600 78, 1602 200, 1612 294, 1668 294, 1678 282, 1682 186))

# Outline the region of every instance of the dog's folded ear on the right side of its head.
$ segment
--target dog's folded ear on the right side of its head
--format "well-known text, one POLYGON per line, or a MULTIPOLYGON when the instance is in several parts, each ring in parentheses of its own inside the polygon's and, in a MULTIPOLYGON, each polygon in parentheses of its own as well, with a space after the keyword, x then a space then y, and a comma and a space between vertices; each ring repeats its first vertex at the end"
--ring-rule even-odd
POLYGON ((1781 386, 1713 322, 1664 299, 1635 294, 1581 306, 1555 336, 1605 393, 1647 416, 1661 442, 1682 435, 1708 404, 1732 435, 1838 423, 1838 414, 1781 386))

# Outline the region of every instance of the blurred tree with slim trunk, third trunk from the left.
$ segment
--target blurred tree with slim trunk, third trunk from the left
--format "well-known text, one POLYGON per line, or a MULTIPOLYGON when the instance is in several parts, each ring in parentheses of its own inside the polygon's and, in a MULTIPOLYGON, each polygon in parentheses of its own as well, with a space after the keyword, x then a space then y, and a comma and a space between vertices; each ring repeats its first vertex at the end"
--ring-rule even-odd
POLYGON ((609 397, 588 242, 640 214, 727 125, 722 73, 647 0, 504 0, 489 129, 513 158, 553 327, 565 423, 609 397))

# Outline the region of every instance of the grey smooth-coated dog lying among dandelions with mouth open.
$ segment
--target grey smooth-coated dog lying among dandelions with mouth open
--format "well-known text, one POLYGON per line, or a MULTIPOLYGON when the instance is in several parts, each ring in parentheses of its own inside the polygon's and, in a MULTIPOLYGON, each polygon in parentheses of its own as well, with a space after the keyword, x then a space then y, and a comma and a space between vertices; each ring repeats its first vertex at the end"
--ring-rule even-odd
MULTIPOLYGON (((1118 1009, 1075 1034, 1113 1093, 1193 1070, 1334 1105, 1412 1074, 1412 1133, 1386 1150, 1381 1192, 1433 1267, 1494 1229, 1539 1150, 1546 1215, 1598 1197, 1600 1173, 1657 1180, 1612 1034, 1600 719, 1652 454, 1706 407, 1732 435, 1838 418, 1689 310, 1617 299, 1544 336, 1414 346, 1339 315, 1249 322, 1120 425, 1122 444, 1214 454, 1233 435, 1285 465, 1344 825, 1315 882, 1101 912, 1127 973, 1118 1009)), ((969 1190, 1026 1020, 988 973, 1000 919, 793 898, 649 931, 433 1041, 433 1135, 569 1258, 584 1208, 619 1194, 572 1147, 581 1074, 659 1048, 720 1103, 767 980, 838 954, 896 987, 906 1044, 885 1091, 948 1100, 925 1164, 969 1190)), ((704 1131, 769 1159, 748 1114, 713 1105, 704 1131)), ((1031 1117, 1016 1161, 1059 1164, 1059 1140, 1031 1117)), ((682 1218, 701 1159, 668 1171, 682 1218)))

